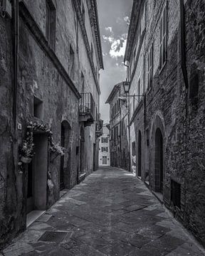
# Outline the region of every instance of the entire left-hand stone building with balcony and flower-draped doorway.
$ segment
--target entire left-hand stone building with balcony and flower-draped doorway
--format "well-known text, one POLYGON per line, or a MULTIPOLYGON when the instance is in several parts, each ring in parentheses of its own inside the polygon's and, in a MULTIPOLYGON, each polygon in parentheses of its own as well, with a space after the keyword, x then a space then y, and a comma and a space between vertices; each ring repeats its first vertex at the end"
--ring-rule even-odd
POLYGON ((63 188, 98 166, 103 68, 95 0, 6 0, 6 6, 0 16, 0 246, 26 228, 28 213, 48 209, 63 188), (35 154, 26 164, 23 149, 27 154, 32 144, 35 154))

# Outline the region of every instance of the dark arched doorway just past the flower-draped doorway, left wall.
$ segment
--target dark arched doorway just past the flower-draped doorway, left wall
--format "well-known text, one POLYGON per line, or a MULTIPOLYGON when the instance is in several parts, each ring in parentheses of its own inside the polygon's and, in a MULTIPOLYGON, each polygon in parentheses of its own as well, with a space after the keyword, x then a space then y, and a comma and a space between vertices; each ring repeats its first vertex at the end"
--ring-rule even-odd
POLYGON ((63 156, 61 156, 61 169, 60 169, 60 189, 65 188, 65 176, 66 183, 70 186, 70 168, 69 168, 69 136, 70 136, 70 125, 67 121, 63 121, 61 123, 61 146, 63 146, 67 152, 63 156))

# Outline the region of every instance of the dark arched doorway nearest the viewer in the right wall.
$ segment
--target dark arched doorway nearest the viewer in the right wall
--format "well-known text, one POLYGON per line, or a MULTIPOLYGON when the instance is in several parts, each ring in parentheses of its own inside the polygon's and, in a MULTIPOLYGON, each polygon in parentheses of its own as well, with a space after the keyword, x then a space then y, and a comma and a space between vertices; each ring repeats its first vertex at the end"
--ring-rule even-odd
POLYGON ((163 192, 164 166, 163 166, 163 136, 159 128, 155 133, 155 191, 163 192))

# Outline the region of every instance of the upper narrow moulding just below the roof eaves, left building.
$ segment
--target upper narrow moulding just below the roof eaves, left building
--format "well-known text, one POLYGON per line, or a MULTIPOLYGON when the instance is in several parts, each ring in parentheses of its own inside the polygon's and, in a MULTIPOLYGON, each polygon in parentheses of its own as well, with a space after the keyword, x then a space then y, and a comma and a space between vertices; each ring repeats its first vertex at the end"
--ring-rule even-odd
POLYGON ((85 48, 86 48, 86 51, 87 51, 87 54, 88 54, 88 60, 90 62, 90 67, 91 67, 91 70, 92 70, 92 73, 93 73, 93 78, 95 80, 95 85, 97 87, 98 93, 100 94, 100 86, 99 86, 99 83, 98 83, 97 74, 95 72, 95 65, 94 65, 93 59, 92 59, 90 44, 89 44, 89 41, 88 41, 88 34, 87 34, 85 24, 84 24, 84 21, 83 21, 83 16, 81 14, 80 3, 79 3, 78 0, 72 0, 72 1, 73 1, 73 5, 75 7, 75 11, 76 11, 76 14, 77 14, 78 21, 80 23, 80 29, 82 31, 83 41, 85 43, 85 48))

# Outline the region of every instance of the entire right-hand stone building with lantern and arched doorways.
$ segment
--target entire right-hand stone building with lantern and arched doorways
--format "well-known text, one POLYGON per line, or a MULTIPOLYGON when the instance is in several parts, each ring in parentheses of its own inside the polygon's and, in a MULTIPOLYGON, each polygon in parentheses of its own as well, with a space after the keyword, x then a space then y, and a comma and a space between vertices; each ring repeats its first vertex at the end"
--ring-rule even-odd
POLYGON ((130 105, 136 174, 205 245, 204 9, 134 1, 125 62, 130 95, 142 95, 130 105))

